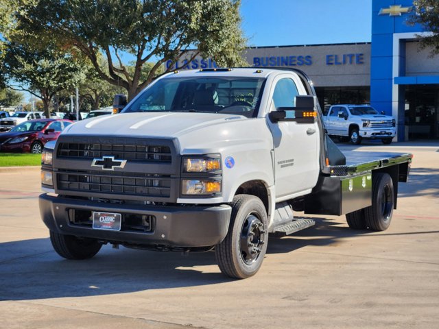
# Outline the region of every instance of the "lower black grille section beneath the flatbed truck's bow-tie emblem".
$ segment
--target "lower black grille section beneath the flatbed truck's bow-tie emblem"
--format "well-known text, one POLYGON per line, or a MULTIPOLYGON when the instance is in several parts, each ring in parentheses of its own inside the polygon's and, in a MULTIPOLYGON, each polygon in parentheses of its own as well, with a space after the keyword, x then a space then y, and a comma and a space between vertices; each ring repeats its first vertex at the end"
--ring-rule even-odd
POLYGON ((170 197, 170 175, 103 171, 60 170, 56 173, 58 188, 137 197, 170 197))

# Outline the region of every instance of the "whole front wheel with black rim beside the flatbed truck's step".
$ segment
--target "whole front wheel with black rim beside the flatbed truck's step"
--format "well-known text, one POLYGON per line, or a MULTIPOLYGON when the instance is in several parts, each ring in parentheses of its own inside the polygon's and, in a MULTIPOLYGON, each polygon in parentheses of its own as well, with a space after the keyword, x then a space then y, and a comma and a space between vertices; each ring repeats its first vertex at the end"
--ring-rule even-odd
POLYGON ((219 269, 230 278, 254 276, 268 245, 268 217, 261 199, 236 195, 226 238, 215 247, 219 269))

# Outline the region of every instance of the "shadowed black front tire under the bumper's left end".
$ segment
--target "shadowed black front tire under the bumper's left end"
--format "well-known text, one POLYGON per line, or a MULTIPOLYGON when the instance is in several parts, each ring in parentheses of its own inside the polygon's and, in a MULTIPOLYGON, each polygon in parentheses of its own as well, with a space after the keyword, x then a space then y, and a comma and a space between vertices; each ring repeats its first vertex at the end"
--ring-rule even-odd
POLYGON ((92 258, 102 247, 95 239, 77 238, 52 231, 50 231, 50 242, 57 254, 67 259, 92 258))

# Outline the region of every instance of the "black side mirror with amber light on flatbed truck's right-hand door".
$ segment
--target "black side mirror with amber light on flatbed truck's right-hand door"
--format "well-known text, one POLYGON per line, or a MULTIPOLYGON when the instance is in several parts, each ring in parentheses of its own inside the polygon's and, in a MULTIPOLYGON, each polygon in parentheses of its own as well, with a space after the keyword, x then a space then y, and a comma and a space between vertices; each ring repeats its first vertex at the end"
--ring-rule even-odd
POLYGON ((273 123, 278 121, 295 121, 297 123, 314 123, 317 112, 314 110, 313 96, 296 96, 296 107, 276 108, 268 118, 273 123))

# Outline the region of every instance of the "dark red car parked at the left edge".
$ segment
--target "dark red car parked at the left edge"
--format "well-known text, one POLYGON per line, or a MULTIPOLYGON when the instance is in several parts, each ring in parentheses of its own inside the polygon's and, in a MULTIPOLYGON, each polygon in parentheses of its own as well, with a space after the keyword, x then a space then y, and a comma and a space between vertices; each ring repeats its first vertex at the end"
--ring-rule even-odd
POLYGON ((0 133, 0 151, 41 153, 45 143, 54 141, 73 121, 38 119, 25 121, 9 132, 0 133))

